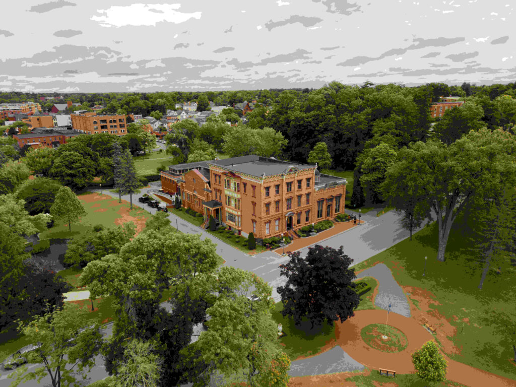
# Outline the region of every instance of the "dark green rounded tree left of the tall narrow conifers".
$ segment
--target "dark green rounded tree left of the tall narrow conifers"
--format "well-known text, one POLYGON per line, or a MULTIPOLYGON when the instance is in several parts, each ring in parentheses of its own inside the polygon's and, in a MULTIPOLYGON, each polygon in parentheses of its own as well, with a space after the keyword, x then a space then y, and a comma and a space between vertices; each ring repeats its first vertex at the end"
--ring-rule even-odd
POLYGON ((55 159, 50 176, 62 185, 80 190, 93 180, 96 168, 90 158, 85 158, 78 152, 63 152, 55 159))

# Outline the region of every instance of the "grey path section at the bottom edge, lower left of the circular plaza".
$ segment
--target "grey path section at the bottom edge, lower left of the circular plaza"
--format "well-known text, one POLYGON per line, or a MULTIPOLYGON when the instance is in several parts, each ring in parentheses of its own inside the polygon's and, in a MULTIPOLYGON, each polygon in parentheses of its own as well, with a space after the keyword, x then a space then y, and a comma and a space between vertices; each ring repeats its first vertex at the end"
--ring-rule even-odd
POLYGON ((290 376, 334 374, 353 370, 363 370, 364 366, 352 359, 340 346, 308 359, 291 363, 290 376))

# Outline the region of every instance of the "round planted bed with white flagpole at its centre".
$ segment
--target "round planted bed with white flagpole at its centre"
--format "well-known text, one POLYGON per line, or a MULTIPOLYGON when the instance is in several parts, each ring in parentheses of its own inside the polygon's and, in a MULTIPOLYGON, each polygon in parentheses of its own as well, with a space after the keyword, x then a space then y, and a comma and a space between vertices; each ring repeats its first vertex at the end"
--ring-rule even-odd
POLYGON ((400 352, 407 348, 408 340, 399 329, 384 324, 369 324, 360 332, 362 340, 370 347, 382 352, 400 352), (386 335, 384 339, 382 336, 386 335))

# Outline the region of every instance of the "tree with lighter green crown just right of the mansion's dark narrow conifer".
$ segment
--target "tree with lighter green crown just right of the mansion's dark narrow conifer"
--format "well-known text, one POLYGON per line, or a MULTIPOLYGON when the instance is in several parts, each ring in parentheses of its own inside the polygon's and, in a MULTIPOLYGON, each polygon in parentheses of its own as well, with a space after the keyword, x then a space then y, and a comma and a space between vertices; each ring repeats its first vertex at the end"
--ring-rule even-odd
POLYGON ((381 142, 375 148, 364 149, 357 157, 360 165, 360 185, 369 203, 383 202, 380 184, 385 180, 385 172, 396 162, 396 150, 381 142))

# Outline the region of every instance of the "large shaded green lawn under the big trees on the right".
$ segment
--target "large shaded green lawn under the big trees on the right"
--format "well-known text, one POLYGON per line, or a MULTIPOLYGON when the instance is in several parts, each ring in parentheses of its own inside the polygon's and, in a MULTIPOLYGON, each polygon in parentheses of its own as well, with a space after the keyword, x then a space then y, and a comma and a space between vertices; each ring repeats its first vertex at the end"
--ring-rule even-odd
POLYGON ((363 269, 379 261, 392 270, 402 286, 431 292, 437 301, 430 304, 432 313, 439 313, 457 327, 457 334, 450 340, 460 348, 460 354, 448 354, 450 358, 516 379, 516 367, 509 362, 513 358, 512 344, 516 344, 516 269, 509 260, 496 263, 483 289, 478 289, 482 266, 467 249, 471 243, 458 230, 459 221, 450 233, 444 263, 435 258, 438 230, 434 222, 414 234, 412 241, 405 239, 353 268, 363 269), (428 261, 423 277, 425 256, 428 261), (500 275, 495 271, 497 266, 501 266, 500 275))

